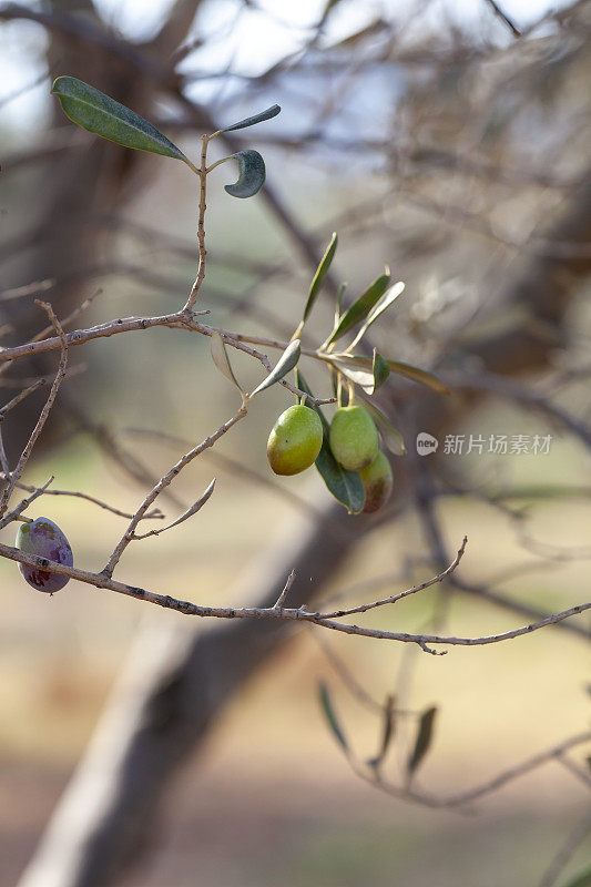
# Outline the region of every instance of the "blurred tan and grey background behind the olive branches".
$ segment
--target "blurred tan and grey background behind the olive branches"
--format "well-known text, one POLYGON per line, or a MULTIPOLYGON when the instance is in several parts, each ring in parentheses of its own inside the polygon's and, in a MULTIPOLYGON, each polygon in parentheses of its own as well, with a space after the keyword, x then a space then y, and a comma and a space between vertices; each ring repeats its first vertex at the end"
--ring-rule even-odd
MULTIPOLYGON (((384 263, 407 283, 400 304, 376 332, 380 350, 435 371, 469 374, 481 367, 470 353, 475 339, 495 341, 499 330, 514 327, 537 340, 540 324, 523 323, 517 297, 514 304, 503 299, 523 268, 556 258, 563 266, 557 272, 559 295, 552 302, 550 294, 550 308, 544 307, 543 359, 532 358, 519 377, 532 392, 530 402, 495 396, 471 401, 455 394, 449 414, 419 429, 437 431, 441 440, 445 434, 552 435, 548 456, 440 451, 437 482, 447 492, 436 499, 450 551, 469 537, 461 564, 466 582, 480 585, 501 577, 496 590, 551 613, 589 598, 589 445, 584 435, 531 409, 536 396, 548 397, 584 428, 590 420, 589 231, 573 234, 584 248, 562 237, 553 245, 549 234, 577 202, 588 171, 589 4, 561 7, 546 19, 543 3, 503 8, 521 37, 489 3, 476 0, 400 8, 300 3, 297 10, 288 3, 217 0, 98 3, 96 10, 90 2, 52 2, 43 9, 49 24, 27 20, 27 10, 33 18, 38 12, 35 4, 20 13, 0 4, 1 94, 10 99, 0 108, 1 288, 54 279, 47 298, 64 314, 100 286, 102 294, 80 324, 90 326, 173 310, 194 276, 196 201, 188 173, 172 161, 131 156, 74 131, 48 96, 58 73, 81 77, 130 104, 192 155, 202 128, 191 115, 198 118, 204 108, 216 122, 228 123, 275 101, 283 105, 279 118, 243 137, 264 154, 268 190, 287 208, 289 223, 283 224, 262 195, 228 197, 222 187, 226 167, 208 185, 211 264, 200 298, 211 308, 212 324, 288 337, 313 273, 306 249, 320 255, 337 230, 334 273, 349 282, 351 297, 384 263), (130 85, 116 54, 108 52, 105 64, 88 49, 92 41, 72 42, 68 29, 55 30, 51 17, 60 16, 84 27, 90 22, 163 67, 184 43, 186 57, 176 68, 180 91, 195 104, 185 106, 157 78, 130 85), (159 34, 164 34, 160 43, 159 34), (459 357, 446 366, 451 351, 459 357), (549 547, 541 557, 520 541, 516 526, 523 521, 490 501, 499 490, 520 489, 527 495, 509 499, 507 507, 527 512, 528 538, 549 547), (523 562, 531 569, 512 575, 523 562)), ((40 326, 30 299, 0 302, 0 308, 2 323, 12 326, 3 333, 4 345, 40 326)), ((327 335, 332 314, 327 294, 309 341, 327 335)), ((108 424, 154 475, 176 458, 177 445, 133 429, 196 441, 236 406, 235 392, 212 367, 207 343, 193 336, 157 329, 73 350, 72 364, 83 361, 85 371, 64 391, 93 421, 108 424)), ((510 364, 510 348, 496 357, 501 367, 506 357, 510 364)), ((258 366, 242 356, 235 364, 245 383, 261 377, 258 366)), ((493 370, 503 373, 501 367, 493 370)), ((310 376, 315 391, 327 395, 328 380, 314 369, 310 376)), ((418 388, 390 385, 396 418, 411 429, 408 414, 418 388)), ((200 603, 236 603, 233 582, 253 555, 273 544, 277 527, 297 533, 314 520, 309 506, 319 508, 326 499, 314 472, 284 481, 266 465, 268 430, 291 402, 285 390, 273 389, 220 445, 222 455, 261 479, 228 470, 214 456, 200 459, 176 491, 192 501, 216 476, 206 510, 174 532, 130 547, 122 578, 200 603)), ((14 446, 30 428, 26 411, 20 422, 7 428, 14 446)), ((53 473, 60 489, 82 489, 134 510, 144 488, 92 436, 73 432, 74 425, 64 407, 29 469, 30 482, 53 473)), ((394 460, 394 470, 404 513, 398 516, 395 501, 390 520, 364 529, 363 541, 348 553, 344 547, 343 563, 323 597, 405 564, 406 575, 387 583, 384 593, 437 572, 400 461, 394 460)), ((162 507, 174 513, 169 502, 162 507)), ((100 569, 124 527, 75 499, 44 500, 39 513, 64 529, 77 564, 88 569, 100 569)), ((12 542, 12 533, 4 531, 2 541, 12 542)), ((8 887, 32 857, 133 638, 153 630, 156 645, 161 626, 183 618, 88 585, 70 585, 45 600, 4 561, 0 595, 0 883, 8 887)), ((492 634, 528 621, 438 587, 366 623, 417 631, 446 595, 446 633, 492 634)), ((589 630, 584 614, 574 621, 589 630)), ((179 630, 195 626, 179 624, 179 630)), ((558 628, 503 644, 451 648, 445 657, 386 642, 326 640, 378 700, 398 685, 400 669, 411 662, 408 705, 440 707, 434 747, 417 777, 429 791, 483 782, 589 725, 588 642, 558 628)), ((589 806, 583 781, 549 763, 482 799, 470 816, 388 797, 348 768, 317 704, 319 679, 329 682, 354 747, 364 756, 375 752, 378 720, 350 697, 314 632, 302 628, 224 708, 205 745, 175 776, 149 853, 118 884, 540 884, 589 806)), ((394 774, 404 767, 410 738, 408 722, 398 730, 388 764, 394 774)), ((573 758, 584 765, 585 754, 589 750, 577 750, 573 758)), ((588 838, 557 884, 568 884, 584 867, 590 848, 588 838)))

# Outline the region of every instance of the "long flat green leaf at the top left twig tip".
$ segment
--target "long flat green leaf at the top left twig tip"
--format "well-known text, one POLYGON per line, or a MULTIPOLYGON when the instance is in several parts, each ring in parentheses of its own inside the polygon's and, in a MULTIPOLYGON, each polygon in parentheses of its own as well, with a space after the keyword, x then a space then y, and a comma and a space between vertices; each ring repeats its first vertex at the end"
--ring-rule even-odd
POLYGON ((60 100, 64 114, 84 130, 102 135, 103 139, 110 139, 124 147, 163 154, 192 165, 183 152, 160 130, 124 104, 115 102, 82 80, 77 80, 74 77, 59 77, 53 82, 51 92, 60 100))

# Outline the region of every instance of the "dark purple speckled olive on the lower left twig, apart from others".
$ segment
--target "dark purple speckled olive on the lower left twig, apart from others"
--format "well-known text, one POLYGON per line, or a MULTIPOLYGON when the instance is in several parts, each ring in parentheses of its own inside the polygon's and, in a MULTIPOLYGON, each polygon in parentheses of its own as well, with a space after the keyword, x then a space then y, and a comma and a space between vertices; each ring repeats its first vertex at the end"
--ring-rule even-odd
MULTIPOLYGON (((74 565, 70 542, 58 524, 49 518, 38 518, 31 523, 21 523, 17 533, 17 548, 26 554, 64 563, 67 567, 74 565)), ((63 589, 70 581, 67 575, 50 573, 40 567, 29 567, 28 563, 19 563, 19 569, 33 589, 45 591, 48 594, 63 589)))

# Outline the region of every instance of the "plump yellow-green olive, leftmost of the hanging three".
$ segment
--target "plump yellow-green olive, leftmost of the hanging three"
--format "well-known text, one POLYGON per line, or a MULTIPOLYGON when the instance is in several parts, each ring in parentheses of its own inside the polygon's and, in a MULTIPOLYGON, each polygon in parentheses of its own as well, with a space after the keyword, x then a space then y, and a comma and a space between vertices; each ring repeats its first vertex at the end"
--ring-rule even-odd
POLYGON ((303 405, 282 412, 268 436, 268 463, 276 475, 298 475, 314 465, 323 446, 318 414, 303 405))

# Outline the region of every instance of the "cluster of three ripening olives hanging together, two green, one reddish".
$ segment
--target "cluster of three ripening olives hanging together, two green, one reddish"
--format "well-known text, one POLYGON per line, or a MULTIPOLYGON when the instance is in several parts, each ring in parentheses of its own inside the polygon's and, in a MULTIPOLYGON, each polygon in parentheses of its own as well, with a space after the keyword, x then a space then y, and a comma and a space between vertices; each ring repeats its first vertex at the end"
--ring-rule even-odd
MULTIPOLYGON (((377 511, 389 499, 391 467, 379 449, 374 420, 363 407, 339 407, 330 424, 330 451, 349 471, 358 471, 365 488, 365 512, 377 511)), ((268 436, 267 458, 276 475, 298 475, 309 468, 323 446, 318 414, 304 405, 282 412, 268 436)))

